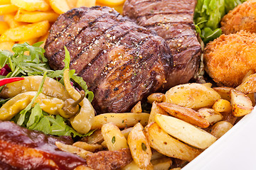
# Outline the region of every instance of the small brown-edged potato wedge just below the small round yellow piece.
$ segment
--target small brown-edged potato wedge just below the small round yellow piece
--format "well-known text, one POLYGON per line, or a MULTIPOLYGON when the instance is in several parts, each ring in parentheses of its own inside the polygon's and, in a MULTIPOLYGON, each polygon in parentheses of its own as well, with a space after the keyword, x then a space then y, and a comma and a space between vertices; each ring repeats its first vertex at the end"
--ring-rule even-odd
POLYGON ((203 118, 208 120, 210 125, 213 125, 214 123, 216 123, 220 120, 223 120, 223 115, 221 113, 218 113, 217 111, 215 111, 213 108, 201 108, 201 109, 198 110, 198 113, 203 118))

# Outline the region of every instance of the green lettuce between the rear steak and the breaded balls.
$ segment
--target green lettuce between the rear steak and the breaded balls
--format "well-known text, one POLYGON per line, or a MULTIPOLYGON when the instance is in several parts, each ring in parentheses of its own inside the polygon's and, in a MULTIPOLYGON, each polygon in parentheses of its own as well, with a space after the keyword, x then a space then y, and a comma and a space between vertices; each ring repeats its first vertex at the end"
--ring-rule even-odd
POLYGON ((194 22, 203 42, 218 38, 222 34, 220 19, 244 1, 246 0, 198 0, 194 22))

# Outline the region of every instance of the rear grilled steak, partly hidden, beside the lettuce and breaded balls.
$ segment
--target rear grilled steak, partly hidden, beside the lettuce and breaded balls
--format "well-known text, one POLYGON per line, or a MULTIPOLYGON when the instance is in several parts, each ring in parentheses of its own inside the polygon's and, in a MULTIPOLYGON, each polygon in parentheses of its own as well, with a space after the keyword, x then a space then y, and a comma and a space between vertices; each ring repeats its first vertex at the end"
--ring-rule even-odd
POLYGON ((201 45, 193 26, 195 0, 127 0, 124 16, 164 38, 174 57, 171 84, 184 84, 196 73, 201 45))

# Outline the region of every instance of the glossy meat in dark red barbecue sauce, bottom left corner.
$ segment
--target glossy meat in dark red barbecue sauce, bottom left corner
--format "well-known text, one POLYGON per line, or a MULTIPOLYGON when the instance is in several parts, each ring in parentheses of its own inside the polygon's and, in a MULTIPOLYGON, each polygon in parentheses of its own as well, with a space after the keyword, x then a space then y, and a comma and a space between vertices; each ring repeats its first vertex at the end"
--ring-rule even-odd
POLYGON ((27 130, 9 121, 0 122, 0 169, 67 169, 86 161, 60 151, 55 137, 27 130))

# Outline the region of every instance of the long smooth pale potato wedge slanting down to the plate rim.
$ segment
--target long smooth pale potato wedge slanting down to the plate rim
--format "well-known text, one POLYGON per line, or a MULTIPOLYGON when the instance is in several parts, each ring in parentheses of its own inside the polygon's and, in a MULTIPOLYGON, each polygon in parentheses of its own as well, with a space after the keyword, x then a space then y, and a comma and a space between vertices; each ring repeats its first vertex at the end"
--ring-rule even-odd
POLYGON ((193 147, 206 149, 217 140, 210 133, 169 115, 156 114, 155 120, 159 127, 169 135, 193 147))

